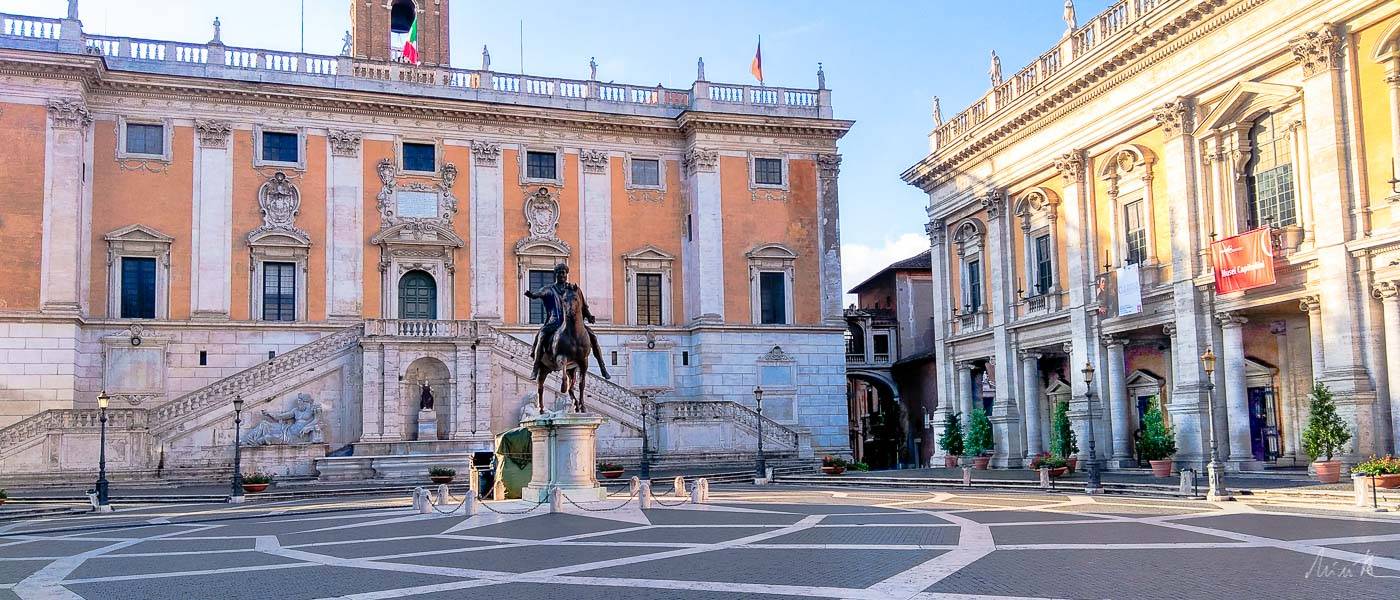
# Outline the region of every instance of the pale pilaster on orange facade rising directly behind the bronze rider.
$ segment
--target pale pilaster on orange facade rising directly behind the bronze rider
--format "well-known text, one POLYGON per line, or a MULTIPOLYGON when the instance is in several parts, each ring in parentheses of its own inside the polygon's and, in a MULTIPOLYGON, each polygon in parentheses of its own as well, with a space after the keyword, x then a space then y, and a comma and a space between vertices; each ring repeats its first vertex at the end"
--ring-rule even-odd
MULTIPOLYGON (((578 220, 578 271, 584 297, 594 316, 603 323, 613 322, 613 267, 616 257, 612 248, 612 161, 601 150, 578 152, 580 207, 578 220)), ((627 319, 617 319, 626 322, 627 319)))

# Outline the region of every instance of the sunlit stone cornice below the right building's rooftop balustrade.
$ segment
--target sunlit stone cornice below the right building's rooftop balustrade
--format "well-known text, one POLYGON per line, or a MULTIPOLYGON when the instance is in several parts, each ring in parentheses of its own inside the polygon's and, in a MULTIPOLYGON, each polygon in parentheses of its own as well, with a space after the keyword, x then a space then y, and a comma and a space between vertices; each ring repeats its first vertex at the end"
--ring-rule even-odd
POLYGON ((1039 94, 1028 94, 1014 102, 1011 109, 998 110, 998 115, 988 122, 973 127, 973 133, 948 143, 900 176, 906 183, 930 192, 956 173, 969 159, 1050 126, 1267 1, 1184 3, 1182 8, 1163 15, 1162 20, 1145 24, 1133 35, 1114 42, 1110 52, 1095 53, 1093 60, 1067 67, 1067 76, 1057 77, 1051 87, 1043 88, 1039 94))

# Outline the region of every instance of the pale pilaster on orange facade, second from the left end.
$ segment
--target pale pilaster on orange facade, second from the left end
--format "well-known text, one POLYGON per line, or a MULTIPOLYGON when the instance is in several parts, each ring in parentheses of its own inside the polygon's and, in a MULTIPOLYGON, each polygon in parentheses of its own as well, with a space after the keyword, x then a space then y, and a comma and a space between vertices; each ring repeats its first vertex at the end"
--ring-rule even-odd
POLYGON ((190 317, 227 320, 232 285, 232 124, 195 120, 190 317))

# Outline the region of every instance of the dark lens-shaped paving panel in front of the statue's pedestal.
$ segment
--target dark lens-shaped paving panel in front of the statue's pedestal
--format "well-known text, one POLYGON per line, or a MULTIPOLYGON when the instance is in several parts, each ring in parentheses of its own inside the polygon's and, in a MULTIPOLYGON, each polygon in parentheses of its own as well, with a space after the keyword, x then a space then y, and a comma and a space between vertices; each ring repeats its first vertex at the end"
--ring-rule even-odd
POLYGON ((609 561, 613 558, 626 558, 662 551, 665 551, 665 548, 539 544, 512 545, 472 552, 428 554, 423 557, 393 558, 385 562, 524 573, 529 571, 553 569, 556 566, 566 565, 582 565, 588 562, 609 561))

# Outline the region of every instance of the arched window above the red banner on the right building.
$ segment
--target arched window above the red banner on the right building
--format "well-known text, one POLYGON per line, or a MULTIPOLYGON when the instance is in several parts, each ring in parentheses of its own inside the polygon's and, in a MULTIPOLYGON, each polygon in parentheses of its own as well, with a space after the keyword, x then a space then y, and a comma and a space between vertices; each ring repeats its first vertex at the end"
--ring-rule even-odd
POLYGON ((1260 116, 1249 130, 1249 145, 1245 165, 1249 227, 1296 225, 1294 154, 1282 119, 1273 112, 1260 116))

